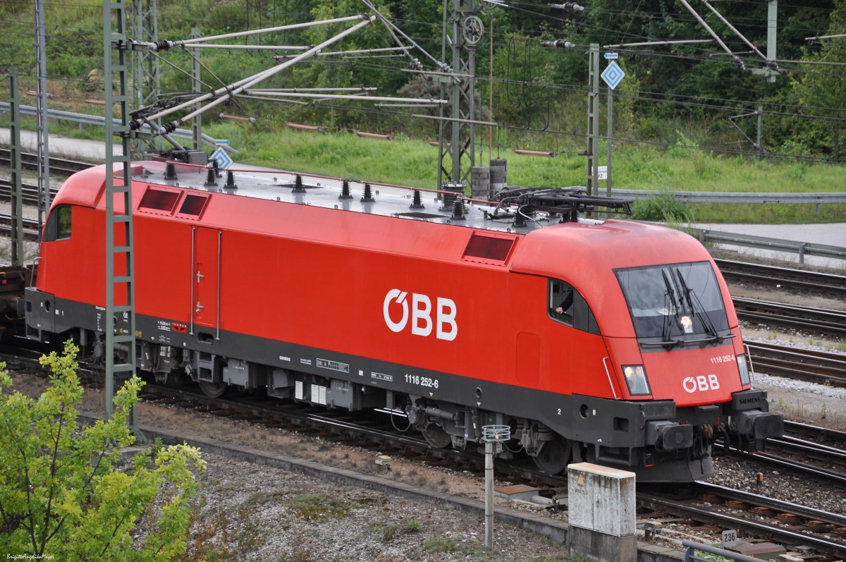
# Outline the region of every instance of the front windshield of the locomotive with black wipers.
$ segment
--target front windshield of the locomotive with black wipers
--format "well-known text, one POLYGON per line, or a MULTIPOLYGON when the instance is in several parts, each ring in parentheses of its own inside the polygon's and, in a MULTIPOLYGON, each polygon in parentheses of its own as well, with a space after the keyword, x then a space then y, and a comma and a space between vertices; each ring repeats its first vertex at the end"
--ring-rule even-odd
POLYGON ((728 330, 722 293, 710 262, 618 269, 634 333, 679 342, 690 335, 717 338, 728 330))

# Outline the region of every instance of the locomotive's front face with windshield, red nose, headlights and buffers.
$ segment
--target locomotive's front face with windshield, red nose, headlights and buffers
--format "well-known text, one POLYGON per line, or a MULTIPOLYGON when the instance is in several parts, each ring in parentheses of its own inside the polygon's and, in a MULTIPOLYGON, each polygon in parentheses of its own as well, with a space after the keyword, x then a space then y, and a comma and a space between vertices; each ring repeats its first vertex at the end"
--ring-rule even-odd
POLYGON ((783 417, 769 413, 766 390, 751 387, 731 300, 711 261, 613 273, 634 337, 608 339, 609 351, 625 398, 633 405, 650 401, 641 403, 649 405, 640 412, 641 447, 629 451, 648 479, 707 477, 718 439, 755 451, 783 433, 783 417))

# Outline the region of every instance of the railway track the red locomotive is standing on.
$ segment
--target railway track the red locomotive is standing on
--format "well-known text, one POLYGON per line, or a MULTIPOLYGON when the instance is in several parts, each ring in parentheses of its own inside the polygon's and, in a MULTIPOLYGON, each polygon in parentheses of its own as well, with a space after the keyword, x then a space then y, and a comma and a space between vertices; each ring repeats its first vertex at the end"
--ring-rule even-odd
MULTIPOLYGON (((32 360, 15 358, 13 361, 17 365, 25 365, 32 360)), ((94 381, 101 375, 97 371, 81 374, 94 381)), ((206 415, 230 420, 260 423, 266 427, 284 427, 316 435, 332 443, 376 449, 393 457, 410 458, 429 466, 448 466, 456 471, 470 471, 479 476, 484 467, 481 455, 453 449, 431 449, 424 439, 404 434, 401 431, 404 418, 398 416, 392 420, 393 416, 386 415, 386 420, 375 423, 372 419, 362 420, 360 416, 347 411, 292 405, 249 395, 212 399, 195 388, 153 383, 148 383, 144 399, 163 402, 169 407, 200 410, 206 415)), ((820 428, 812 431, 813 438, 820 438, 820 428)), ((829 433, 828 438, 837 439, 838 436, 829 433)), ((549 498, 561 499, 565 495, 561 490, 566 489, 566 477, 551 477, 518 463, 497 461, 496 469, 499 480, 525 482, 540 488, 539 495, 549 498)), ((715 526, 717 533, 722 528, 733 528, 739 530, 741 536, 766 537, 791 547, 812 546, 819 560, 846 556, 846 516, 843 515, 703 482, 688 486, 676 485, 669 491, 660 486, 643 487, 637 493, 636 501, 641 519, 661 519, 669 515, 677 520, 688 521, 689 526, 715 526)), ((551 500, 550 508, 558 504, 551 500)))

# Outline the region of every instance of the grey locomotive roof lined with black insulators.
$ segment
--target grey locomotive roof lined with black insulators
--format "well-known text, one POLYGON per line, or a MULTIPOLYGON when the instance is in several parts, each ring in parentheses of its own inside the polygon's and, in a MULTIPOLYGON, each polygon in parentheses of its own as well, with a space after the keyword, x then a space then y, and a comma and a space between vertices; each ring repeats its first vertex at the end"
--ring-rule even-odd
MULTIPOLYGON (((231 185, 228 183, 228 173, 224 171, 219 177, 209 182, 210 170, 205 166, 143 161, 133 163, 131 169, 135 182, 148 185, 189 188, 267 201, 285 201, 515 234, 526 234, 546 226, 567 222, 562 218, 569 217, 569 214, 563 211, 551 212, 550 207, 541 206, 541 209, 545 210, 538 210, 538 206, 531 206, 533 208, 530 210, 525 205, 513 202, 507 205, 500 204, 497 207, 497 201, 464 197, 461 198, 464 205, 456 208, 452 201, 454 196, 448 191, 437 192, 280 170, 230 168, 228 172, 233 174, 233 185, 231 185), (168 165, 172 165, 173 174, 168 175, 168 165), (349 187, 349 196, 344 196, 347 193, 347 190, 344 190, 345 183, 349 187), (368 190, 370 191, 369 199, 366 193, 368 190), (419 201, 416 199, 418 194, 419 201), (445 204, 444 201, 448 203, 445 204)), ((116 168, 117 175, 119 175, 118 168, 116 168)), ((582 189, 563 188, 544 190, 544 192, 560 193, 566 196, 569 193, 579 193, 582 189)))

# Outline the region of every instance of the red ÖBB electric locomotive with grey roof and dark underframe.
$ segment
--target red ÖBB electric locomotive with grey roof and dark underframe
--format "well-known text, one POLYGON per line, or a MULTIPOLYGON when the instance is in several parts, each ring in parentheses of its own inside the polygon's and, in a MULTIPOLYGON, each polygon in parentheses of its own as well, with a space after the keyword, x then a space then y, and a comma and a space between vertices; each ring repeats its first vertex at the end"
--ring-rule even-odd
MULTIPOLYGON (((105 174, 59 190, 26 291, 30 338, 72 335, 94 355, 104 329, 125 328, 103 317, 105 174)), ((507 425, 503 455, 641 482, 707 477, 719 436, 754 449, 782 433, 702 245, 577 217, 624 201, 436 199, 286 173, 224 183, 156 162, 133 174, 136 356, 160 382, 387 410, 435 447, 475 448, 483 426, 507 425)))

